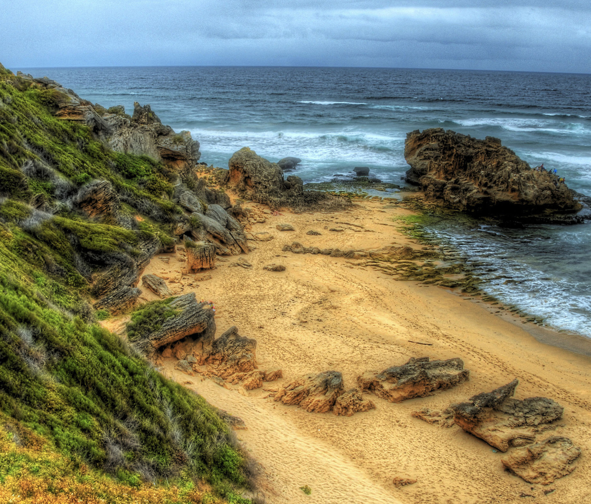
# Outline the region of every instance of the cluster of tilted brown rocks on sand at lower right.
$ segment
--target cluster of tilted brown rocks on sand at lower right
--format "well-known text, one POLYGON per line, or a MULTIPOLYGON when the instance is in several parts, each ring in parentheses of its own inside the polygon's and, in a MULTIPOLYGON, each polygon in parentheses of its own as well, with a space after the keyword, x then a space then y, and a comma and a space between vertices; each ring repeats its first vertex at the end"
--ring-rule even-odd
POLYGON ((528 483, 548 485, 574 470, 573 462, 581 450, 569 438, 561 436, 537 442, 540 434, 556 429, 563 408, 544 397, 514 399, 518 383, 515 379, 444 411, 421 409, 413 417, 441 427, 459 425, 504 453, 518 447, 501 458, 503 466, 528 483))

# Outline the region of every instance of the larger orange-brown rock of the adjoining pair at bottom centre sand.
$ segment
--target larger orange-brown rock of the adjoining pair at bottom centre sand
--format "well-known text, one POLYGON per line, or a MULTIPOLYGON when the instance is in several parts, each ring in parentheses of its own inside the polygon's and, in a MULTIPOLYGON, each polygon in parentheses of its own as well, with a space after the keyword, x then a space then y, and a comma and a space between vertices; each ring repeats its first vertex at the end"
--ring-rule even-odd
POLYGON ((343 393, 343 376, 338 371, 307 375, 279 389, 275 401, 300 405, 306 411, 326 413, 343 393))

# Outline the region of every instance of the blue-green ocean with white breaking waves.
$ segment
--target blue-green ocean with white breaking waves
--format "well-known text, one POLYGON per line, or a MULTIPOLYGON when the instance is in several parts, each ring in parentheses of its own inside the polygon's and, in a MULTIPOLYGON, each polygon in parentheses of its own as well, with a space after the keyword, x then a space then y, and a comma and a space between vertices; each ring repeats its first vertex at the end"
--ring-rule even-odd
MULTIPOLYGON (((302 159, 305 182, 356 166, 402 184, 404 139, 440 127, 496 136, 532 167, 544 163, 591 196, 591 75, 309 67, 11 69, 47 75, 105 107, 150 103, 187 129, 201 160, 227 167, 248 146, 271 161, 302 159)), ((396 194, 391 194, 396 196, 396 194)), ((442 219, 428 229, 495 295, 556 329, 591 337, 591 222, 508 229, 442 219)))

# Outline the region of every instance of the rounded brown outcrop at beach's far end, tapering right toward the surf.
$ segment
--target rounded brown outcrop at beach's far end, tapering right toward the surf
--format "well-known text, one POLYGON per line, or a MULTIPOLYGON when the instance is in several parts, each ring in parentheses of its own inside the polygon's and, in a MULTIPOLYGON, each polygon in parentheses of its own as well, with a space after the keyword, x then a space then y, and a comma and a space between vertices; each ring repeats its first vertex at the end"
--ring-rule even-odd
POLYGON ((272 208, 282 206, 294 210, 337 210, 350 206, 348 199, 320 191, 304 191, 300 177, 283 178, 280 165, 256 155, 248 147, 234 152, 228 162, 228 186, 243 197, 268 204, 272 208))

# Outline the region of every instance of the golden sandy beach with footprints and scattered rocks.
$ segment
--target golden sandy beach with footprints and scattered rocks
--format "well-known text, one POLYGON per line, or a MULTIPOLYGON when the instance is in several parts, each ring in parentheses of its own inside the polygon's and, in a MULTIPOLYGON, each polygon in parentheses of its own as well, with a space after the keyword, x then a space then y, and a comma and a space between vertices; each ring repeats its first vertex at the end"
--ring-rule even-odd
MULTIPOLYGON (((275 215, 259 204, 245 206, 265 219, 248 232, 268 232, 273 239, 251 241, 256 248, 248 256, 218 257, 215 269, 198 274, 183 274, 179 248, 156 256, 144 274, 163 277, 174 294, 194 291, 197 298, 212 300, 218 336, 237 326, 242 336, 258 342, 260 369, 282 369, 279 382, 245 391, 199 374, 187 376, 174 369, 174 357, 164 362, 164 372, 177 382, 245 422, 246 430, 236 434, 261 464, 264 502, 591 502, 591 341, 522 323, 495 305, 449 289, 397 281, 362 261, 282 251, 294 241, 319 248, 421 248, 393 219, 408 210, 391 201, 359 199, 337 213, 275 215), (281 232, 280 223, 294 230, 281 232), (309 230, 321 234, 307 235, 309 230), (241 258, 252 267, 230 267, 241 258), (271 263, 286 269, 265 271, 271 263), (544 343, 556 341, 579 353, 544 343), (269 396, 281 383, 326 370, 342 372, 345 389, 352 388, 363 372, 421 356, 460 357, 470 380, 400 404, 368 395, 376 408, 352 417, 309 413, 269 396), (515 398, 544 396, 564 407, 563 419, 548 435, 569 437, 582 449, 574 472, 548 486, 506 472, 502 453, 457 425, 440 428, 411 417, 418 409, 444 409, 514 378, 519 379, 515 398), (392 484, 395 477, 416 483, 399 488, 392 484), (310 495, 300 489, 306 485, 310 495)), ((142 299, 157 296, 143 288, 142 299)), ((121 322, 106 325, 117 330, 121 322)))

